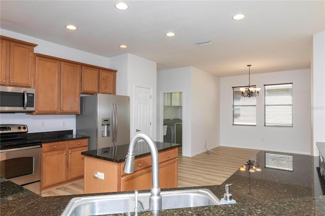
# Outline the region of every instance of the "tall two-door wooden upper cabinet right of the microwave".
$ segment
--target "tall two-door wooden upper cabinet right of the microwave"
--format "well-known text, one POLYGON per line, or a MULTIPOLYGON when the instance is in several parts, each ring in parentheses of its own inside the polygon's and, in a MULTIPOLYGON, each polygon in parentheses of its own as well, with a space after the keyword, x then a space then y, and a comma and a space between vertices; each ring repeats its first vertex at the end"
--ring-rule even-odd
POLYGON ((36 54, 35 114, 80 114, 81 65, 36 54))

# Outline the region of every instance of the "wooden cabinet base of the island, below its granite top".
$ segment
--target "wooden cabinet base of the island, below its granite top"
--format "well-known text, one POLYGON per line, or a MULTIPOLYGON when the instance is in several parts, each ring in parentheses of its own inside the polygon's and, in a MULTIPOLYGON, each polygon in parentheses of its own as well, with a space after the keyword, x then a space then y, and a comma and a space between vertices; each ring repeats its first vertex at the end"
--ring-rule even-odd
MULTIPOLYGON (((158 152, 159 187, 177 188, 178 149, 158 152)), ((151 155, 135 159, 134 173, 123 171, 124 162, 115 163, 99 158, 85 157, 84 193, 146 190, 151 188, 151 155), (104 179, 93 174, 104 173, 104 179)))

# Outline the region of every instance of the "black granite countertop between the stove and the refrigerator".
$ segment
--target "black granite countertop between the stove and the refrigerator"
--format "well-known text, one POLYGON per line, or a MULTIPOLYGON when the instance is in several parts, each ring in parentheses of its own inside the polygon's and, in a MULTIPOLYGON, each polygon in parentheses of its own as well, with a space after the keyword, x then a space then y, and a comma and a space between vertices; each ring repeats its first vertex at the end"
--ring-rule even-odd
POLYGON ((38 133, 27 133, 28 139, 37 139, 42 143, 47 142, 58 142, 72 139, 83 139, 89 138, 89 136, 73 134, 73 130, 62 130, 62 131, 50 131, 50 132, 38 132, 38 133))

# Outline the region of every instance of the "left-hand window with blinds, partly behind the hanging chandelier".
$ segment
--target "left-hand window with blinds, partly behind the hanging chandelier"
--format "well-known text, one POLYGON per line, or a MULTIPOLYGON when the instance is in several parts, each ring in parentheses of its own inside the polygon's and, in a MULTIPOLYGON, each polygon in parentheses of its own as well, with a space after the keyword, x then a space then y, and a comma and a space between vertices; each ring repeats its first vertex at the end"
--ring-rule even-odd
POLYGON ((256 125, 256 97, 243 97, 240 88, 233 87, 233 125, 256 125))

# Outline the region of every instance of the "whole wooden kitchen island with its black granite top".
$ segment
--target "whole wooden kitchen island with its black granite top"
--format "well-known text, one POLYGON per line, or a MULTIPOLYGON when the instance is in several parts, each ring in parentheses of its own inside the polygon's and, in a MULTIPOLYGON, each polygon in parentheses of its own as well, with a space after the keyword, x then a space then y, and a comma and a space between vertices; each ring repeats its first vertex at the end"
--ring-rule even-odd
MULTIPOLYGON (((178 144, 154 142, 159 158, 159 187, 177 188, 178 144)), ((151 188, 151 154, 145 141, 135 146, 134 173, 123 171, 129 145, 82 152, 85 156, 84 193, 146 190, 151 188)))

